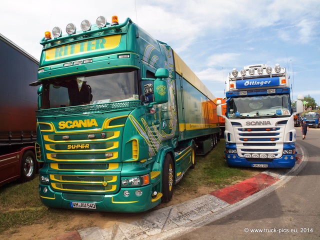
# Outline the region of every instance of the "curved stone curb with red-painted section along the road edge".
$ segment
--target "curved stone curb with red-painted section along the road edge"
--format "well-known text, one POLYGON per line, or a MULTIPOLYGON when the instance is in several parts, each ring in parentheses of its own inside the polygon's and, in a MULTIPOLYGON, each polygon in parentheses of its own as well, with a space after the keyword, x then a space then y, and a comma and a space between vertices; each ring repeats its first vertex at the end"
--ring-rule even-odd
MULTIPOLYGON (((303 152, 297 147, 295 166, 292 169, 268 169, 240 183, 213 191, 209 194, 145 213, 132 222, 115 222, 101 229, 98 226, 72 231, 56 237, 56 240, 104 240, 104 239, 167 239, 187 232, 202 224, 232 212, 232 208, 251 201, 259 192, 271 191, 272 185, 286 179, 288 174, 301 168, 303 152), (270 189, 268 189, 270 188, 270 189), (242 200, 242 201, 241 201, 242 200), (234 206, 234 207, 233 207, 234 206)), ((285 181, 286 181, 285 180, 285 181)), ((263 193, 265 194, 265 193, 263 193)), ((106 219, 107 221, 107 219, 106 219)))

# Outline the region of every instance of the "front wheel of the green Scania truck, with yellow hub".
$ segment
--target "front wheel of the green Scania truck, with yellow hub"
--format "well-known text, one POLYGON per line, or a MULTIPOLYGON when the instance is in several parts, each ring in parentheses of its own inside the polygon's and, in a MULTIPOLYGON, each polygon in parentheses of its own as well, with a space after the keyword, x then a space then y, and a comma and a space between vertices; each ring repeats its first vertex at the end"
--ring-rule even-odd
POLYGON ((164 157, 163 170, 162 170, 162 202, 168 202, 173 194, 173 160, 170 154, 164 157))

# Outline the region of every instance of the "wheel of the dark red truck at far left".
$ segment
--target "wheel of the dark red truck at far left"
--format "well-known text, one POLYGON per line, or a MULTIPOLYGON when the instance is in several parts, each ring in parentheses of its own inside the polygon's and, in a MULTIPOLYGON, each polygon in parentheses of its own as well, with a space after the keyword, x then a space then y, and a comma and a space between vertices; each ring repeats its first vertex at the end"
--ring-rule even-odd
POLYGON ((21 159, 20 181, 29 181, 34 178, 36 171, 36 160, 33 151, 26 151, 21 159))

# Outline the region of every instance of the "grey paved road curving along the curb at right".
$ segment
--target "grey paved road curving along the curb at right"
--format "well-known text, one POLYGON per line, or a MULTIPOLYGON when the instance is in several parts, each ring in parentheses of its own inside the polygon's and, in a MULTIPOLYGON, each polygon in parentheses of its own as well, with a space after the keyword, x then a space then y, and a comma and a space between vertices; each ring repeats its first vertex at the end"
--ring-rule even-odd
POLYGON ((171 239, 320 239, 320 129, 297 143, 304 167, 264 197, 171 239))

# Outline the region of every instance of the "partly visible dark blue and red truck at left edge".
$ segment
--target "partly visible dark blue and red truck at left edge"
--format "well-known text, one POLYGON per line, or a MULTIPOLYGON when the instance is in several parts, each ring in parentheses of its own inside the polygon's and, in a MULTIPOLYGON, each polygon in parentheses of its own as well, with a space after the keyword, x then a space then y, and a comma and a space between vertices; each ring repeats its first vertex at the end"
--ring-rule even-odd
POLYGON ((38 61, 0 34, 0 185, 31 180, 37 170, 36 89, 38 61))

